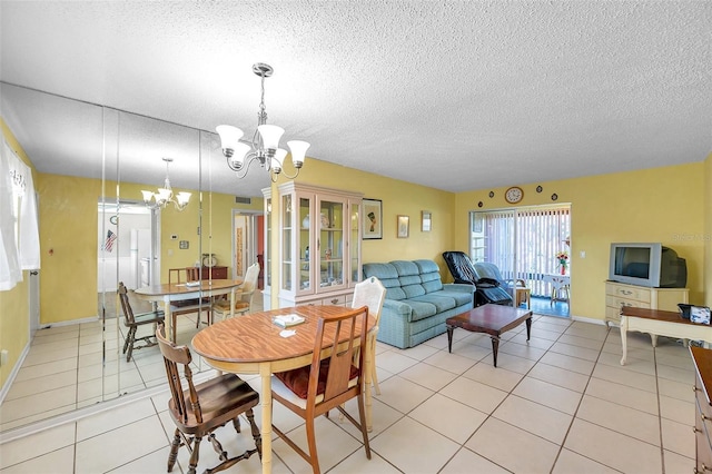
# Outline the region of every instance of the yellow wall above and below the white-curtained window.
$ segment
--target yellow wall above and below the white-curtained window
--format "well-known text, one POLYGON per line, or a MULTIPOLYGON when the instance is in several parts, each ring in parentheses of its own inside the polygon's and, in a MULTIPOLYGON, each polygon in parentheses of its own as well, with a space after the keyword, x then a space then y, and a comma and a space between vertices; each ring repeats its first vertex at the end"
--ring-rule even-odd
MULTIPOLYGON (((32 180, 37 187, 34 166, 2 118, 0 118, 0 128, 10 148, 32 169, 32 180)), ((0 387, 4 385, 29 342, 30 308, 27 280, 28 271, 23 270, 22 282, 10 290, 0 292, 0 349, 8 350, 8 363, 0 366, 0 387)))

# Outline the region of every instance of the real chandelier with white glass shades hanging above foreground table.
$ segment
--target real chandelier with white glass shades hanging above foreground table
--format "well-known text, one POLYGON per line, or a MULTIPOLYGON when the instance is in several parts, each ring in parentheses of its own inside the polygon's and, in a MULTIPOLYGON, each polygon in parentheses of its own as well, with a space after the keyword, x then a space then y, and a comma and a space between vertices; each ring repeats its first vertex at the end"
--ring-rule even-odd
MULTIPOLYGON (((257 130, 255 130, 253 140, 241 140, 243 135, 245 135, 243 130, 229 125, 220 125, 216 130, 220 136, 222 155, 227 158, 227 166, 237 172, 238 178, 241 179, 247 176, 249 166, 257 160, 269 172, 270 179, 276 182, 277 175, 284 171, 281 166, 287 156, 287 150, 279 148, 279 139, 285 130, 276 125, 267 125, 267 112, 265 111, 265 78, 270 77, 274 69, 269 65, 257 62, 253 65, 253 72, 260 77, 263 91, 259 112, 257 112, 257 130)), ((296 172, 294 176, 284 172, 283 176, 294 179, 299 175, 299 169, 304 165, 309 144, 291 140, 287 141, 287 145, 291 151, 291 162, 296 172)))

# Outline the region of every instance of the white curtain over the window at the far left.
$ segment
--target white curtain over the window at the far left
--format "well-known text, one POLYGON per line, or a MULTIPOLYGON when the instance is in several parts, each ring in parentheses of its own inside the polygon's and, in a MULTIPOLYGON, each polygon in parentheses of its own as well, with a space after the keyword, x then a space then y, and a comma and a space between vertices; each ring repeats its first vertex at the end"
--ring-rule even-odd
POLYGON ((0 290, 40 267, 40 238, 32 171, 8 146, 0 149, 0 290))

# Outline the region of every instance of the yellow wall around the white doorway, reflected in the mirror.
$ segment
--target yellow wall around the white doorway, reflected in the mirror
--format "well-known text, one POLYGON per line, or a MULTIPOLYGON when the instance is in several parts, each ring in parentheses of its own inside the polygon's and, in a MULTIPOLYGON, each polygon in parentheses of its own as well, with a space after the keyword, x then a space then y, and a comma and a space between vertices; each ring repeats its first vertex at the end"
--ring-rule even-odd
MULTIPOLYGON (((47 174, 39 174, 39 177, 42 249, 40 323, 96 317, 99 310, 97 204, 101 197, 101 181, 47 174)), ((118 188, 121 199, 136 200, 146 185, 122 182, 118 188)), ((116 182, 107 184, 107 200, 115 199, 116 189, 116 182)), ((202 251, 216 253, 218 261, 229 266, 233 209, 261 209, 261 199, 255 199, 250 206, 241 206, 234 204, 234 197, 229 195, 210 196, 206 192, 202 198, 202 213, 198 192, 194 194, 191 204, 182 213, 172 206, 161 210, 161 282, 168 279, 169 268, 192 266, 200 259, 200 214, 206 216, 202 251), (172 234, 178 235, 178 240, 170 240, 172 234), (180 240, 188 240, 189 248, 179 249, 180 240)))

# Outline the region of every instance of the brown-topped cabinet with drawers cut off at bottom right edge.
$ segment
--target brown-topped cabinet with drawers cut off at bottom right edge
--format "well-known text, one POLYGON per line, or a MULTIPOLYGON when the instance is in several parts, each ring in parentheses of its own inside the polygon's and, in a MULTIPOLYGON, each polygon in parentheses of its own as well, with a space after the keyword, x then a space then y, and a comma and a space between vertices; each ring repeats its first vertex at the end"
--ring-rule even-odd
POLYGON ((696 416, 695 436, 695 473, 712 471, 712 350, 702 347, 690 347, 696 377, 694 382, 696 416))

